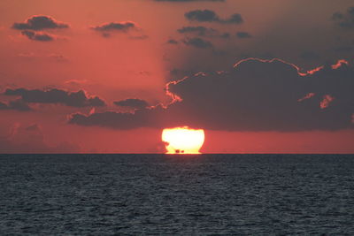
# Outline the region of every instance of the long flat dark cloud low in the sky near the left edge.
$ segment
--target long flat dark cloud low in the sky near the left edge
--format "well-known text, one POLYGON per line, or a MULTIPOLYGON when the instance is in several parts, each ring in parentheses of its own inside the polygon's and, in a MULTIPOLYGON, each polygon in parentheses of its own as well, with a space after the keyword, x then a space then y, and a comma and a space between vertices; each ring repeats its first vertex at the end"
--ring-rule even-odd
POLYGON ((97 96, 89 97, 82 90, 77 92, 67 92, 60 89, 28 90, 26 88, 6 89, 4 95, 20 96, 25 103, 60 103, 70 107, 99 107, 105 103, 97 96))

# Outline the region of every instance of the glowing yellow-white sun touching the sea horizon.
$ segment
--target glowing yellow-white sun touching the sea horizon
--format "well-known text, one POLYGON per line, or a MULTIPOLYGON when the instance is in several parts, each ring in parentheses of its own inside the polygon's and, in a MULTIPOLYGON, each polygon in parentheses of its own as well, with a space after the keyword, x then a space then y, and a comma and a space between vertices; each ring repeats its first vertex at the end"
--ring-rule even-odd
POLYGON ((204 143, 204 130, 188 126, 166 128, 162 132, 167 154, 200 154, 204 143))

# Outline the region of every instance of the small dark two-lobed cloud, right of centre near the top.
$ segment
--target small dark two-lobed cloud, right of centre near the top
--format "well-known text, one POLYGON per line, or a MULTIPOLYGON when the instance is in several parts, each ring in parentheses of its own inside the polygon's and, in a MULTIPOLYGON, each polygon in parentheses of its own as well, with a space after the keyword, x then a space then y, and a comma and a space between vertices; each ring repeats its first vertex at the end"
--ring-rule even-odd
POLYGON ((194 10, 184 14, 186 19, 198 22, 217 22, 222 24, 241 24, 243 23, 242 16, 239 13, 231 15, 228 19, 220 19, 215 11, 211 10, 194 10))

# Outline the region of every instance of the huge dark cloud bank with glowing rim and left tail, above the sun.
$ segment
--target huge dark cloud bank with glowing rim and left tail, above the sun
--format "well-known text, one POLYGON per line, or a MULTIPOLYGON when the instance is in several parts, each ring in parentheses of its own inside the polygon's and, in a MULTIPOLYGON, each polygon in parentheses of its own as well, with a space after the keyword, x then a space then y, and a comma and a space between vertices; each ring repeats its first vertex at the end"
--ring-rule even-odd
POLYGON ((354 69, 345 61, 302 72, 280 59, 248 58, 228 72, 197 73, 166 85, 173 103, 135 113, 73 114, 69 123, 116 129, 192 126, 226 131, 353 128, 354 69), (333 99, 335 98, 335 99, 333 99))

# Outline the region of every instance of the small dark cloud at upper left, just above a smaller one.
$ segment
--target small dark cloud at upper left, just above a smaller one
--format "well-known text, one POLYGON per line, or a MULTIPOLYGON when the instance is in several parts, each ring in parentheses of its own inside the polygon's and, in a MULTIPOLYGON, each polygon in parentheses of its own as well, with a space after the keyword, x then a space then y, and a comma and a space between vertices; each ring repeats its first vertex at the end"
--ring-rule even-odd
POLYGON ((32 16, 25 23, 14 23, 12 28, 19 30, 43 30, 68 28, 69 25, 59 22, 50 16, 32 16))

